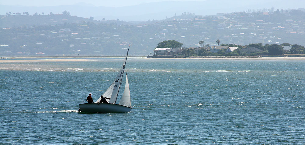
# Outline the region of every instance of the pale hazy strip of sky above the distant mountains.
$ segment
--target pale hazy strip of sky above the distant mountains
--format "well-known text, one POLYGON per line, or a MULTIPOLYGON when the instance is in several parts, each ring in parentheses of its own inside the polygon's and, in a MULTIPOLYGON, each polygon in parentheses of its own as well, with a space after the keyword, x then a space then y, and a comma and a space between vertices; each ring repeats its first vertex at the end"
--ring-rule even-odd
MULTIPOLYGON (((23 6, 54 6, 74 5, 80 2, 94 6, 121 7, 137 5, 149 2, 161 2, 171 0, 0 0, 1 5, 23 5, 23 6)), ((172 1, 206 1, 206 0, 172 0, 172 1)))

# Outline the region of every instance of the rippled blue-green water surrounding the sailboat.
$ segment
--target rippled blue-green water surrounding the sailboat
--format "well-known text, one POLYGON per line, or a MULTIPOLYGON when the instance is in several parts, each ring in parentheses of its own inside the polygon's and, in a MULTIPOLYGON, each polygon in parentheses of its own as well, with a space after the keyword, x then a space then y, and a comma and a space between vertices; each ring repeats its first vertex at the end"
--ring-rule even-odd
POLYGON ((0 62, 0 144, 305 144, 303 60, 130 58, 131 112, 77 113, 122 63, 0 62))

